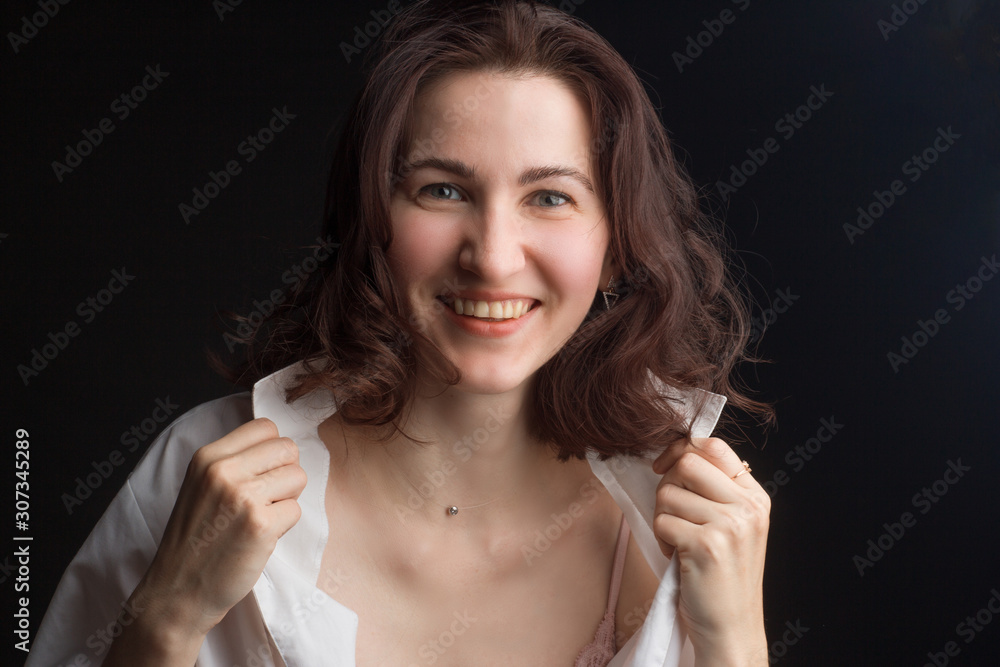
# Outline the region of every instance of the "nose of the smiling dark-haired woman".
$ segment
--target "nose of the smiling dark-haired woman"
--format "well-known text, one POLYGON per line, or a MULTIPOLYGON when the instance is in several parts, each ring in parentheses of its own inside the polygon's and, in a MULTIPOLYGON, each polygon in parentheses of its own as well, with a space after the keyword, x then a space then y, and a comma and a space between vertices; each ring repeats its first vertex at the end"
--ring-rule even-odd
POLYGON ((524 268, 524 236, 517 212, 491 205, 470 216, 459 264, 484 283, 501 284, 524 268))

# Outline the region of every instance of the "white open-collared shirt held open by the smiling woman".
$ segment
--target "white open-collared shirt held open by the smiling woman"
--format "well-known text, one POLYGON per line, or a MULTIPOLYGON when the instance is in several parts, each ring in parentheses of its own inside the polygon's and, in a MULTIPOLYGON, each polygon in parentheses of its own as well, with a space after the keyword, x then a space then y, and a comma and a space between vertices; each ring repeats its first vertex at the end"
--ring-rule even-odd
MULTIPOLYGON (((56 588, 38 628, 26 667, 100 665, 121 624, 141 610, 123 605, 156 554, 167 519, 195 450, 240 424, 267 417, 299 447, 308 481, 299 496, 302 516, 278 540, 253 592, 205 638, 197 667, 317 667, 354 665, 357 614, 320 588, 320 569, 329 522, 324 503, 329 451, 317 426, 332 414, 329 400, 314 392, 287 404, 282 387, 299 364, 261 379, 244 392, 203 403, 181 415, 150 446, 112 500, 56 588)), ((660 391, 681 398, 666 385, 660 391)), ((725 397, 705 394, 705 407, 692 426, 708 437, 725 397)), ((687 395, 685 399, 690 399, 687 395)), ((684 400, 690 417, 692 403, 684 400)), ((655 492, 660 475, 648 462, 613 457, 587 460, 618 503, 636 543, 660 585, 642 627, 618 651, 609 667, 681 667, 694 664, 690 641, 677 616, 679 572, 653 536, 655 492)), ((650 459, 651 460, 651 459, 650 459)), ((206 527, 206 531, 210 528, 206 527)), ((323 572, 336 582, 339 572, 323 572)))

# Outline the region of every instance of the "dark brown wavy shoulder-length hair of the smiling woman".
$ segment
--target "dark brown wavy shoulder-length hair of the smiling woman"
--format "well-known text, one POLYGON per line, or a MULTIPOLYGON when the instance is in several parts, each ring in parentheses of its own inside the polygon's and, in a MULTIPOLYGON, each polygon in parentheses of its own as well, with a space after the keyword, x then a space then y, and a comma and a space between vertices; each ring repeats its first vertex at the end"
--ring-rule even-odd
POLYGON ((721 225, 703 213, 642 83, 606 40, 531 1, 419 0, 394 17, 365 64, 330 172, 324 231, 337 249, 242 337, 245 359, 232 368, 214 359, 230 380, 252 386, 304 360, 287 400, 329 390, 346 423, 377 427, 384 438, 399 430, 413 395, 415 339, 436 351, 419 363, 458 383, 458 369, 404 312, 386 261, 408 119, 420 92, 454 72, 542 75, 589 102, 595 186, 622 296, 605 310, 595 294, 579 329, 538 371, 532 433, 560 460, 588 450, 602 459, 642 455, 689 436, 677 400, 651 374, 677 389, 724 394, 761 423, 773 421, 773 409, 735 379, 739 362, 757 360, 746 355, 748 299, 732 278, 721 225))

